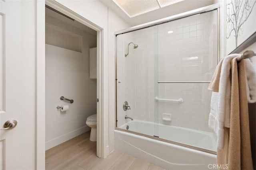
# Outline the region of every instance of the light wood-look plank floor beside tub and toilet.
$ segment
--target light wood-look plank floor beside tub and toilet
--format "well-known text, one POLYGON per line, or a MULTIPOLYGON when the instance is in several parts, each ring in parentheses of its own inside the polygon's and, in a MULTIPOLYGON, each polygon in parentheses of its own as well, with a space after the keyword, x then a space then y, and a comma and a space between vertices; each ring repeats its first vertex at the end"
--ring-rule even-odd
POLYGON ((46 150, 46 170, 164 170, 118 151, 98 158, 96 142, 89 138, 90 131, 46 150))

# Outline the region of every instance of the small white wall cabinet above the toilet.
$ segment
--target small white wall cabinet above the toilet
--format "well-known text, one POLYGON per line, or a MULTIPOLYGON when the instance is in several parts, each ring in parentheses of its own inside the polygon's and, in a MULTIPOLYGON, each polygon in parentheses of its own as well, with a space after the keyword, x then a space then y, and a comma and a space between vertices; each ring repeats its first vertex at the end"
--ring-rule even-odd
POLYGON ((97 47, 90 48, 89 51, 89 67, 90 67, 90 78, 96 79, 97 78, 97 47))

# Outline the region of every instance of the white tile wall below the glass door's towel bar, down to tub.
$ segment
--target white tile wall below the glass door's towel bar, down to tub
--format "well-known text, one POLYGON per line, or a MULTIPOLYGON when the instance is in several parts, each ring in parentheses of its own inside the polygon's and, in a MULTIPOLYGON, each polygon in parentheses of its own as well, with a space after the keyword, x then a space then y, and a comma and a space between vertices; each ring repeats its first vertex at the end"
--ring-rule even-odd
POLYGON ((179 102, 159 101, 159 123, 209 131, 208 115, 210 113, 211 92, 208 84, 160 84, 159 98, 183 99, 179 102), (172 114, 172 121, 162 120, 162 113, 172 114))

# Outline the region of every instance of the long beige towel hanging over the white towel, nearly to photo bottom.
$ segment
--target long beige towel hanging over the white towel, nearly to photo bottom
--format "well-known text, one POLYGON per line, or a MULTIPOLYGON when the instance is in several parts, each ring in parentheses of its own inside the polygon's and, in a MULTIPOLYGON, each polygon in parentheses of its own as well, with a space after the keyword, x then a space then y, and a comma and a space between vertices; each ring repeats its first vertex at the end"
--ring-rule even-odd
POLYGON ((217 161, 228 164, 229 170, 252 170, 245 61, 237 64, 235 58, 231 64, 230 128, 225 128, 224 148, 217 150, 217 161))

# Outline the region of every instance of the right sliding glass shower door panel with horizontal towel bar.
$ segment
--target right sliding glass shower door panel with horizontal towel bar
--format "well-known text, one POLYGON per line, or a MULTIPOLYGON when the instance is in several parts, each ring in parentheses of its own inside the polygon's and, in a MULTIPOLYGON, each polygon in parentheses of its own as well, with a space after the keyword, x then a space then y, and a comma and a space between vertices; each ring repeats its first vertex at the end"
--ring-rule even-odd
POLYGON ((159 137, 215 151, 207 88, 218 60, 217 10, 160 24, 158 35, 159 98, 183 100, 159 101, 159 137))

